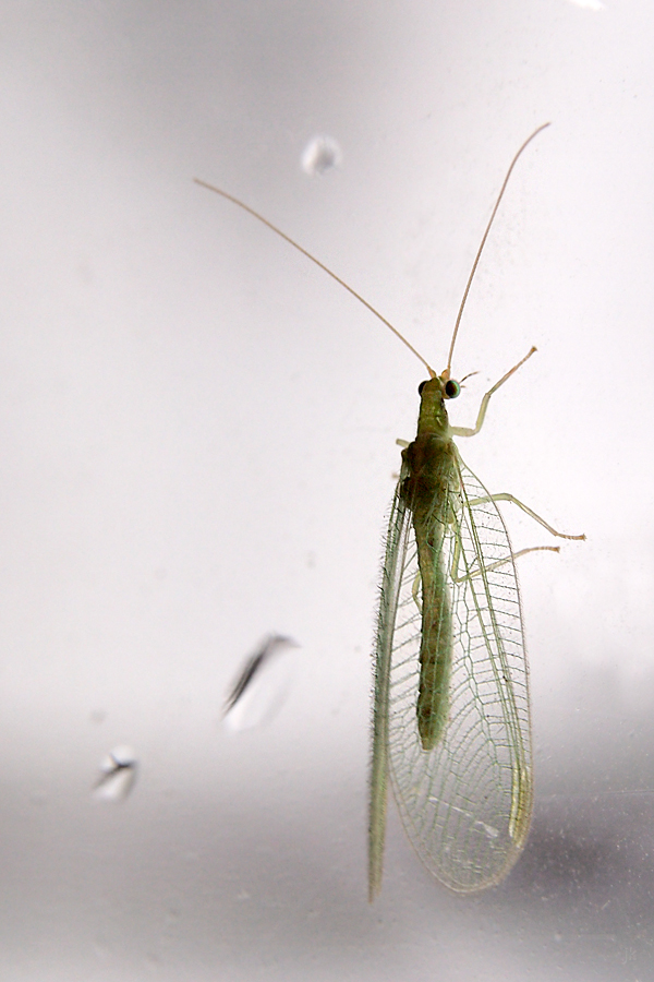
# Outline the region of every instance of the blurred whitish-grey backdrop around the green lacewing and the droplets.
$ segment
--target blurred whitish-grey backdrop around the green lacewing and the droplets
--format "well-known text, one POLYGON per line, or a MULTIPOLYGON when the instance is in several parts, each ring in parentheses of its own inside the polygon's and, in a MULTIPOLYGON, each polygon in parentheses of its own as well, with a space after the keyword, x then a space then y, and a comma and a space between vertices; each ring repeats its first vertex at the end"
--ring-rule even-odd
MULTIPOLYGON (((73 980, 654 979, 654 15, 644 0, 1 2, 0 970, 73 980), (520 564, 537 794, 447 894, 392 812, 365 889, 385 514, 424 369, 585 543, 520 564), (307 177, 328 133, 340 169, 307 177), (226 688, 294 637, 277 719, 226 688), (90 788, 116 744, 138 780, 90 788)), ((517 548, 550 544, 520 514, 517 548)))

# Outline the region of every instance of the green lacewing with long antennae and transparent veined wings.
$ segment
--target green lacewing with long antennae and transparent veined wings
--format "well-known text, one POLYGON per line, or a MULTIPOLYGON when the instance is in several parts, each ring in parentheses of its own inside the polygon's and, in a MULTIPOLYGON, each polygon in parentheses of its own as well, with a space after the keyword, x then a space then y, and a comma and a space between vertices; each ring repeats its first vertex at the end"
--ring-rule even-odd
MULTIPOLYGON (((474 427, 450 427, 446 403, 461 383, 451 363, 465 301, 520 155, 505 177, 482 237, 437 374, 392 324, 339 276, 239 199, 198 184, 249 212, 343 286, 422 361, 417 434, 402 444, 391 506, 377 623, 368 814, 368 897, 382 887, 387 789, 426 867, 447 887, 472 893, 507 875, 529 833, 533 805, 528 663, 513 553, 498 502, 465 467, 455 436, 481 430, 491 397, 535 348, 484 395, 474 427)), ((462 380, 463 381, 463 380, 462 380)), ((400 442, 400 441, 398 441, 400 442)))

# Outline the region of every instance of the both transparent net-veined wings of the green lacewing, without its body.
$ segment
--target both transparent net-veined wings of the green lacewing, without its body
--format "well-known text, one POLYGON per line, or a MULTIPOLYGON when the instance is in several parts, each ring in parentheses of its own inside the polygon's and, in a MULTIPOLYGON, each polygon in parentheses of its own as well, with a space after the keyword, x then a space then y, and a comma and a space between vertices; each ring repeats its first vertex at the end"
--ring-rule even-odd
POLYGON ((380 884, 384 836, 375 797, 385 798, 387 771, 411 842, 450 889, 501 881, 529 831, 528 666, 511 547, 486 489, 461 462, 459 470, 443 555, 434 556, 447 572, 452 613, 448 721, 428 751, 416 719, 422 618, 412 516, 399 495, 391 513, 377 645, 371 894, 380 884))

